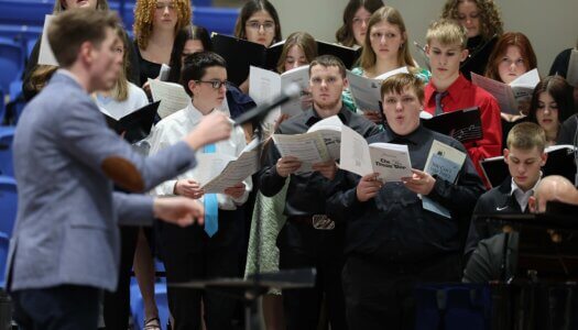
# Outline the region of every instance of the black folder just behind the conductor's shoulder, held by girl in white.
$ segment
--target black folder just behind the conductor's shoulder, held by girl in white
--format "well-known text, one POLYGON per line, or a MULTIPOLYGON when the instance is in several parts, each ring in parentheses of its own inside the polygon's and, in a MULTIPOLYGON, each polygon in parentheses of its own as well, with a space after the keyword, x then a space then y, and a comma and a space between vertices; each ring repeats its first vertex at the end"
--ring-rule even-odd
POLYGON ((132 144, 149 136, 160 103, 161 101, 152 102, 118 120, 107 113, 102 114, 105 114, 109 128, 118 134, 124 132, 124 140, 132 144))

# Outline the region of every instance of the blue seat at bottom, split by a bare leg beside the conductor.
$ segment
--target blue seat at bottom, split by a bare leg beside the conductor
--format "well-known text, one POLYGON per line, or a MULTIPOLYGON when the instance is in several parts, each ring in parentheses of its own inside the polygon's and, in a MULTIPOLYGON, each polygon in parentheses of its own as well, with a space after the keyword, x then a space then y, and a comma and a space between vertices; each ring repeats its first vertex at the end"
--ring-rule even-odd
MULTIPOLYGON (((159 318, 161 319, 162 329, 166 329, 165 324, 168 322, 168 302, 166 298, 166 283, 155 283, 154 299, 159 308, 159 318)), ((141 330, 144 327, 144 305, 141 296, 141 290, 137 283, 131 284, 130 288, 130 306, 132 319, 134 320, 134 329, 141 330)))

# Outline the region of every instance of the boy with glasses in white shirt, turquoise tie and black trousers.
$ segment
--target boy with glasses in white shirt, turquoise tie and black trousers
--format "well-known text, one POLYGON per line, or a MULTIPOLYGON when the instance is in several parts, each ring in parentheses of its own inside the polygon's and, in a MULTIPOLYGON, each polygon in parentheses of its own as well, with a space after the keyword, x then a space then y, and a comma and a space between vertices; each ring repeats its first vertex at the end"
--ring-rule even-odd
MULTIPOLYGON (((172 145, 193 130, 211 112, 220 111, 227 91, 225 59, 211 52, 200 52, 185 58, 182 84, 192 102, 161 120, 151 138, 151 153, 172 145)), ((236 128, 231 138, 205 147, 203 153, 237 157, 246 147, 242 129, 236 128)), ((203 162, 203 158, 200 158, 203 162)), ((205 228, 177 229, 163 226, 160 230, 166 278, 170 283, 212 277, 238 277, 243 212, 239 209, 251 190, 251 178, 225 189, 225 194, 205 194, 199 184, 200 173, 189 170, 157 186, 157 196, 185 196, 203 200, 206 210, 205 228)), ((174 317, 173 329, 200 329, 201 304, 208 329, 231 329, 233 299, 210 292, 168 287, 168 307, 174 317)))

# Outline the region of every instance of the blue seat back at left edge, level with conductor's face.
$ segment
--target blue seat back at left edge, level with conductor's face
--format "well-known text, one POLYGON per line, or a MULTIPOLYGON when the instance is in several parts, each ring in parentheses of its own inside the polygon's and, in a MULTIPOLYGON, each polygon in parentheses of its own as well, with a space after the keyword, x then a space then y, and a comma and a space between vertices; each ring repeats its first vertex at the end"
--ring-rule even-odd
POLYGON ((0 37, 0 88, 8 94, 10 82, 20 78, 24 67, 22 44, 8 37, 0 37))

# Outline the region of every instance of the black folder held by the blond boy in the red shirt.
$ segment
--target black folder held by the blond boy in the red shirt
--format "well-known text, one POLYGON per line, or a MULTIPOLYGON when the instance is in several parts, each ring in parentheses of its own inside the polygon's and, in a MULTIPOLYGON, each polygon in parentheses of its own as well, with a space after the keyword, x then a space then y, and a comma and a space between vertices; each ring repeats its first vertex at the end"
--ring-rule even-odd
POLYGON ((483 138, 480 108, 472 107, 441 113, 432 119, 423 119, 425 128, 449 135, 461 143, 473 142, 483 138))

